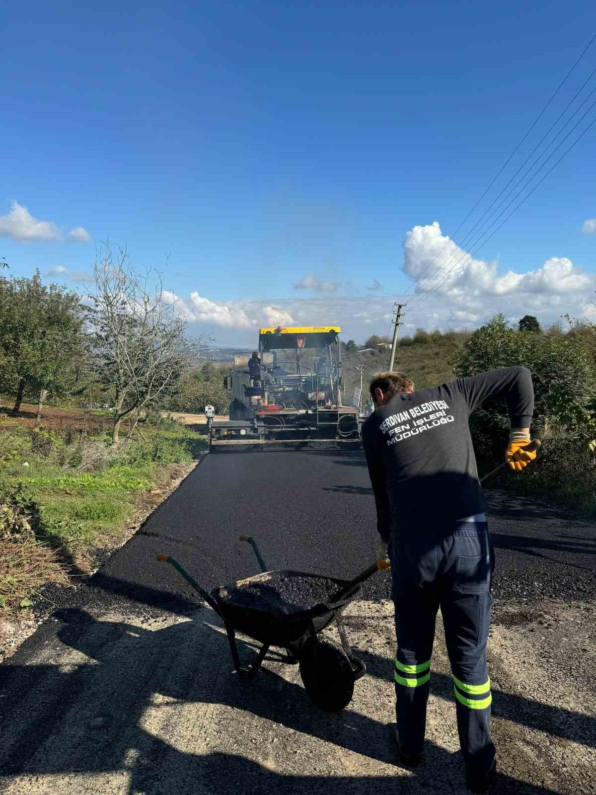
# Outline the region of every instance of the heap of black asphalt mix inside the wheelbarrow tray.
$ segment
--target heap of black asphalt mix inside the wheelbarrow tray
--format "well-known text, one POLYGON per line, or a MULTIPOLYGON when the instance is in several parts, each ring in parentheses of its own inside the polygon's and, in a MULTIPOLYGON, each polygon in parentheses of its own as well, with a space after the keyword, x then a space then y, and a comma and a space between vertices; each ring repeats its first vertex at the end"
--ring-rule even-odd
POLYGON ((220 592, 220 599, 281 615, 292 615, 329 604, 339 585, 327 577, 272 572, 264 580, 250 580, 220 592))

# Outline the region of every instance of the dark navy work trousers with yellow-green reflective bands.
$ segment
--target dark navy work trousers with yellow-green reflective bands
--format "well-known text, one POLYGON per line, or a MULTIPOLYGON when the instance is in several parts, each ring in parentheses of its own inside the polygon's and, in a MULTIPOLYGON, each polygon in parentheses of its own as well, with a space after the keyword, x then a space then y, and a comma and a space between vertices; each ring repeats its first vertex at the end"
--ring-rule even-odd
POLYGON ((436 614, 441 608, 466 772, 482 778, 495 755, 490 738, 490 626, 493 546, 486 522, 410 526, 389 541, 397 656, 397 731, 405 754, 424 743, 436 614))

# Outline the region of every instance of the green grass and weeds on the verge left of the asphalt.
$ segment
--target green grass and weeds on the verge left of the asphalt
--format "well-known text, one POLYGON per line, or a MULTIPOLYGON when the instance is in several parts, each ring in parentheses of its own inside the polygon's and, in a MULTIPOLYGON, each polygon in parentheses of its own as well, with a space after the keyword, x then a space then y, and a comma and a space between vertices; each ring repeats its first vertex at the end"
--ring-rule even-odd
MULTIPOLYGON (((205 436, 154 417, 117 448, 110 434, 27 429, 0 415, 0 611, 27 610, 41 585, 67 581, 64 560, 118 545, 143 493, 207 449, 205 436)), ((0 615, 2 613, 0 612, 0 615)))

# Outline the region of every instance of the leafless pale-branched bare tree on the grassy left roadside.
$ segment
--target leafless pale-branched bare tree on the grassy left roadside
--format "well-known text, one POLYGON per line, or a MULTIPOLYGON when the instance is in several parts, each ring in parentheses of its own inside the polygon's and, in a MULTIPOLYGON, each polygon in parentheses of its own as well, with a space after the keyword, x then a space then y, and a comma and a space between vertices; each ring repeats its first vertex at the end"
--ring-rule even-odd
MULTIPOLYGON (((174 390, 188 358, 207 337, 188 339, 187 320, 173 293, 164 290, 161 273, 134 269, 124 249, 114 256, 102 243, 96 257, 95 370, 97 380, 114 390, 112 444, 118 444, 122 420, 174 390)), ((135 420, 136 425, 136 420, 135 420)))

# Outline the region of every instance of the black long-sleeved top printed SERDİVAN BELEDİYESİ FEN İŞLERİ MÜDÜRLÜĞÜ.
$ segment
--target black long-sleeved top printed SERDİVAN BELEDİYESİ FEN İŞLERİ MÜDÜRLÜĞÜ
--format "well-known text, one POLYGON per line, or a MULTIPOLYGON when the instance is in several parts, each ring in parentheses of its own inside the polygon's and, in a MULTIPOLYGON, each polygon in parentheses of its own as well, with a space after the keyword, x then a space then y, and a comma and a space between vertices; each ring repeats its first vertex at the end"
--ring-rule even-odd
POLYGON ((534 390, 526 367, 400 392, 362 425, 383 541, 392 530, 408 532, 412 521, 450 522, 485 510, 468 417, 488 397, 504 398, 512 428, 529 427, 534 390))

